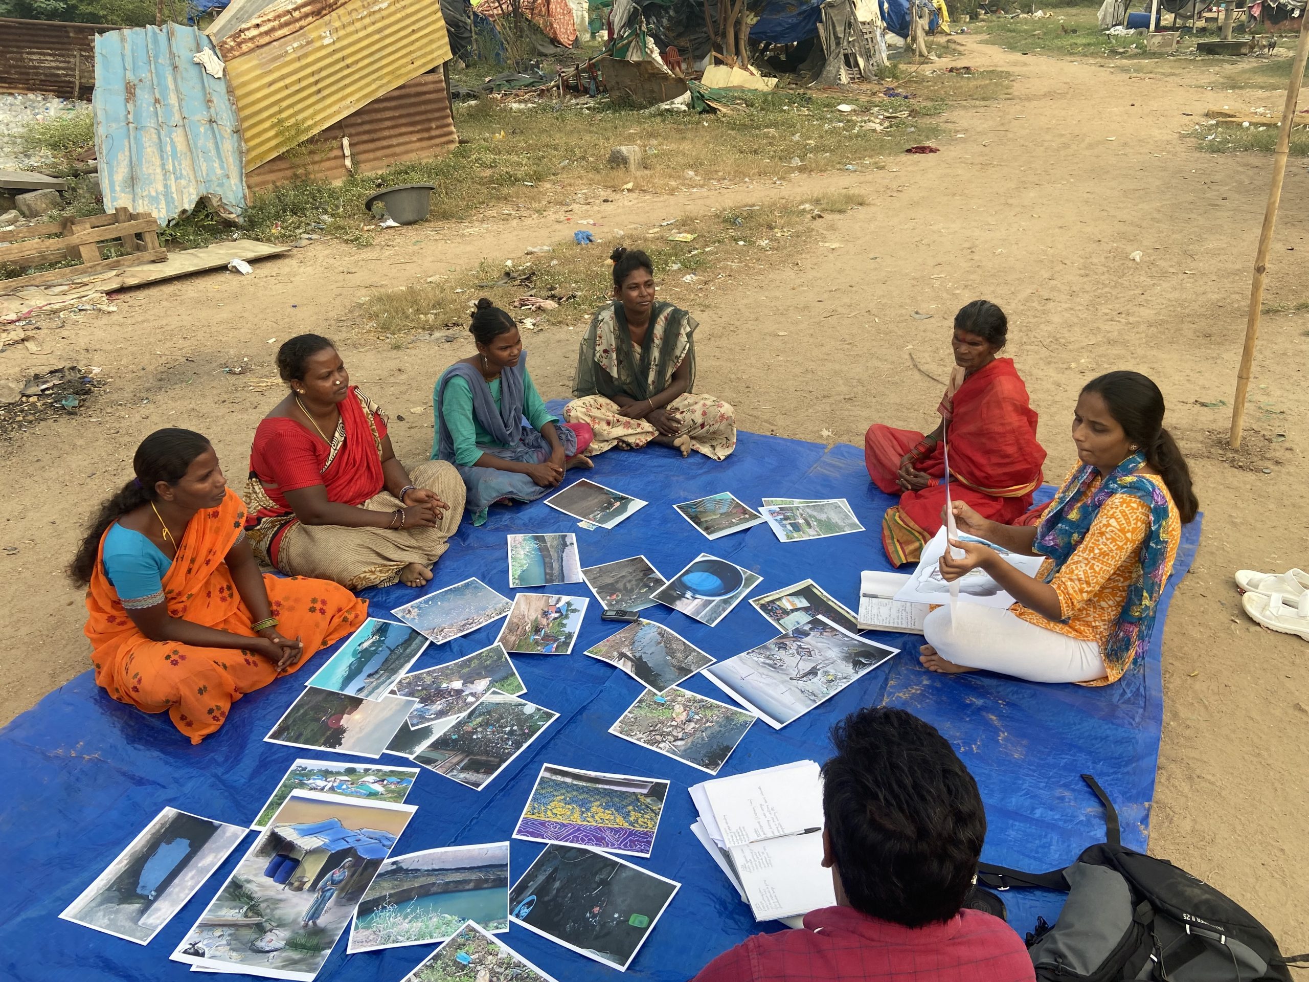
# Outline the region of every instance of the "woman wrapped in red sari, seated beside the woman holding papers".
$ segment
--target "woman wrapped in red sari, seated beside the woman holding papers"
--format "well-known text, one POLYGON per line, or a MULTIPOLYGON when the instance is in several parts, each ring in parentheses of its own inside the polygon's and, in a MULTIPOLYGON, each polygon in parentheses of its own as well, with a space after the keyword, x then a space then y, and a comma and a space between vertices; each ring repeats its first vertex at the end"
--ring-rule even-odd
MULTIPOLYGON (((945 443, 950 496, 1003 525, 1018 525, 1041 484, 1046 452, 1037 443, 1037 414, 1013 360, 996 357, 1009 325, 1004 312, 974 300, 954 316, 954 371, 931 433, 880 423, 864 436, 873 483, 899 504, 882 517, 882 546, 895 566, 918 562, 941 528, 945 507, 945 443)), ((1039 512, 1034 516, 1039 520, 1039 512)))

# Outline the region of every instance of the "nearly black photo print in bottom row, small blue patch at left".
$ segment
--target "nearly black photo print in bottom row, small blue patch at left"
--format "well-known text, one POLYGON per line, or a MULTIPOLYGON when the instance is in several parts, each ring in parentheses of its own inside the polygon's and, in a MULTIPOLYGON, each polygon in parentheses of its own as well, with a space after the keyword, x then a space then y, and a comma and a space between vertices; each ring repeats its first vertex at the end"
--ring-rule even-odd
POLYGON ((546 846, 509 890, 509 917, 626 972, 679 884, 581 846, 546 846))

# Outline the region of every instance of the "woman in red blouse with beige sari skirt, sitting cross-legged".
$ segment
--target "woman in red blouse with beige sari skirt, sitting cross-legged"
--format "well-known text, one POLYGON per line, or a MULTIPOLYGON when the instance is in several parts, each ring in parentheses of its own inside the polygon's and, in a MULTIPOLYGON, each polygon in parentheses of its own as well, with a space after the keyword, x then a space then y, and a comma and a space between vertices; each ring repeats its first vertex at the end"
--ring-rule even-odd
POLYGON ((278 371, 291 393, 259 423, 250 450, 255 555, 352 591, 428 583, 463 517, 454 467, 406 470, 381 410, 350 384, 326 338, 288 340, 278 371))

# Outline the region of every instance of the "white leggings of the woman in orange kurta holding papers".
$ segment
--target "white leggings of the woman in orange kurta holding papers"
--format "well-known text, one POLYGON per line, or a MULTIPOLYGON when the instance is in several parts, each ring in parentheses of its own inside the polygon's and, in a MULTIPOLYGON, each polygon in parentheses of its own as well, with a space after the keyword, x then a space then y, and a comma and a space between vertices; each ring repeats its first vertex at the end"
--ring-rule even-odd
POLYGON ((946 661, 1029 682, 1092 682, 1105 677, 1096 642, 1028 623, 1011 610, 980 604, 942 606, 927 615, 923 635, 946 661))

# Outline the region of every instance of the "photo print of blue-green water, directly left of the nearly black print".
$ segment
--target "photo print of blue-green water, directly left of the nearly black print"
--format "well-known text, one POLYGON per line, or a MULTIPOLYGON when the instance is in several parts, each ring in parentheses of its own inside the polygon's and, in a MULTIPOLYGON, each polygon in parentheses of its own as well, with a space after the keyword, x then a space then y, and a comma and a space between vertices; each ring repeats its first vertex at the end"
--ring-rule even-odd
POLYGON ((449 846, 391 856, 359 901, 346 951, 452 937, 465 922, 509 930, 509 843, 449 846))

